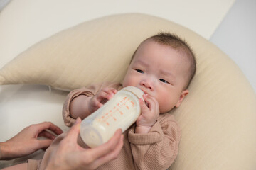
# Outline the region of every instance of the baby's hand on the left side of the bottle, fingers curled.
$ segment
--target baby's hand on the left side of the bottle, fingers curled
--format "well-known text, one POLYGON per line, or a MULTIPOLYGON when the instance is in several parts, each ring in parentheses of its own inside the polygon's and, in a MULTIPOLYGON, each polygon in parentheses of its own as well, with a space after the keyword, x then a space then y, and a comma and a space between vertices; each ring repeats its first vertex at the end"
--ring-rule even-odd
POLYGON ((110 98, 117 93, 117 90, 114 88, 105 88, 97 92, 89 101, 88 109, 91 113, 100 108, 104 103, 106 103, 110 98))

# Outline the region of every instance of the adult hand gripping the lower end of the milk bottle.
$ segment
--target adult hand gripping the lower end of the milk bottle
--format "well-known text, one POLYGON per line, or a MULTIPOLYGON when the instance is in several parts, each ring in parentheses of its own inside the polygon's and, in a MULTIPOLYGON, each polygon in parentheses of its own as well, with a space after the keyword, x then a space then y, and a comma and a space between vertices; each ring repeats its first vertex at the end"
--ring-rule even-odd
POLYGON ((85 149, 77 143, 80 123, 81 119, 78 118, 60 144, 46 150, 39 169, 96 169, 117 158, 123 146, 122 130, 117 130, 105 144, 85 149))

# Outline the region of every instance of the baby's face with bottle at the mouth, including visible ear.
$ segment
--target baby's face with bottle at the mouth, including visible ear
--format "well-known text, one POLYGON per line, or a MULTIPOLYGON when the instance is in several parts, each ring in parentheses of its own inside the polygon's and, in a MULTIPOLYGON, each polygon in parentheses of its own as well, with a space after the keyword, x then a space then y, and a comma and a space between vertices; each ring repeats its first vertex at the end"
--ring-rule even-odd
POLYGON ((160 113, 180 106, 188 94, 186 57, 167 45, 146 40, 137 49, 124 77, 123 86, 136 86, 159 102, 160 113))

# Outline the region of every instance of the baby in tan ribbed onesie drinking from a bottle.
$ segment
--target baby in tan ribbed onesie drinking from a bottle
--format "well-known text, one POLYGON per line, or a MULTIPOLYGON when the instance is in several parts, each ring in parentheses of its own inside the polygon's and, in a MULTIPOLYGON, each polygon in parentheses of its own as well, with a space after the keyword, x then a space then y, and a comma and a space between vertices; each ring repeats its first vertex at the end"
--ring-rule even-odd
POLYGON ((144 40, 132 56, 122 84, 103 83, 71 91, 63 106, 65 124, 85 118, 118 90, 136 86, 142 114, 124 132, 124 147, 117 159, 98 169, 167 169, 178 154, 181 132, 172 108, 181 106, 196 72, 196 60, 188 44, 170 33, 144 40))

